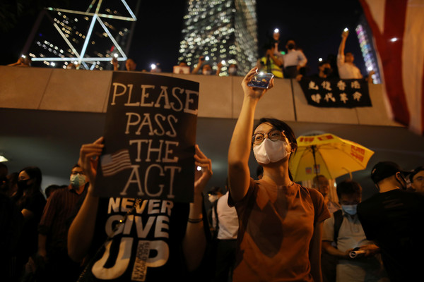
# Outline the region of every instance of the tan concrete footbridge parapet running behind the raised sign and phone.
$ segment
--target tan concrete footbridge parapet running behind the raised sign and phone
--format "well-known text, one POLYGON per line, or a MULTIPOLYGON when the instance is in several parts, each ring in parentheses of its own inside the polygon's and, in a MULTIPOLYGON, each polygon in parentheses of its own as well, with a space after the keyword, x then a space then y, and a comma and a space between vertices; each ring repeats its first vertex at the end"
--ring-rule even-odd
MULTIPOLYGON (((237 118, 242 106, 242 77, 161 73, 200 82, 199 117, 237 118)), ((0 108, 102 113, 107 109, 112 71, 0 66, 0 108)), ((307 104, 295 80, 276 79, 258 104, 255 118, 283 121, 398 125, 387 117, 382 85, 370 85, 372 107, 317 108, 307 104), (293 90, 292 90, 293 89, 293 90)))

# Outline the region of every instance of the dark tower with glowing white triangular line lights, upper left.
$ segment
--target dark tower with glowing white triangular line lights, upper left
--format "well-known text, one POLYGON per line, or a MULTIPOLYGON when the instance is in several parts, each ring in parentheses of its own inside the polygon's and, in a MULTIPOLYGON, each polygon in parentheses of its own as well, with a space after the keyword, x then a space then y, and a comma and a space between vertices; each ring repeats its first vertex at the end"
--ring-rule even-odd
POLYGON ((81 2, 40 13, 23 49, 32 66, 102 70, 126 60, 140 0, 81 2))

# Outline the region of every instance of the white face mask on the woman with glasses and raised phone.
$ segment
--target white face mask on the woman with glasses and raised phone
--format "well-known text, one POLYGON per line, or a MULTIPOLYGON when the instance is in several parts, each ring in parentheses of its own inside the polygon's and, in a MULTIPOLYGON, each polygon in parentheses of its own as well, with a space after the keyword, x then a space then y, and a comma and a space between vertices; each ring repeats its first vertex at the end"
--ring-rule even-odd
POLYGON ((287 157, 287 146, 288 144, 283 140, 271 141, 265 138, 264 142, 253 147, 254 157, 261 164, 275 163, 287 157))

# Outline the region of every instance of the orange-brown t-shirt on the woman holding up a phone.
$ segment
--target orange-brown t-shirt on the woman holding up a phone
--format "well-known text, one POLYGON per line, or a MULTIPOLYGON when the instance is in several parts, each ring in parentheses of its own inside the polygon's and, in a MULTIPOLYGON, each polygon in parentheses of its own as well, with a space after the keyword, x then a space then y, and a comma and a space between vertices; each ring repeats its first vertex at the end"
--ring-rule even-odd
POLYGON ((317 190, 251 178, 247 195, 228 203, 235 205, 240 226, 233 281, 313 281, 314 224, 330 217, 317 190))

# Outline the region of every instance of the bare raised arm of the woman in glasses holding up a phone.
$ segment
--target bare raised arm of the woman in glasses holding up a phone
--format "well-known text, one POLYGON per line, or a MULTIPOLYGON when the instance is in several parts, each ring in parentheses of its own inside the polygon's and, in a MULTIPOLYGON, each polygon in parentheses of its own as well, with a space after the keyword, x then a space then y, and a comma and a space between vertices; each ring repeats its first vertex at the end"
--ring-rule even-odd
MULTIPOLYGON (((266 92, 266 90, 260 88, 247 86, 247 83, 252 80, 256 71, 257 68, 252 68, 242 81, 245 98, 243 99, 242 110, 235 124, 230 148, 228 149, 228 184, 230 185, 232 200, 235 202, 242 200, 249 188, 250 171, 247 163, 252 146, 254 111, 257 102, 266 92)), ((271 80, 270 88, 272 86, 273 80, 271 80)))

